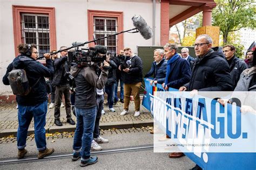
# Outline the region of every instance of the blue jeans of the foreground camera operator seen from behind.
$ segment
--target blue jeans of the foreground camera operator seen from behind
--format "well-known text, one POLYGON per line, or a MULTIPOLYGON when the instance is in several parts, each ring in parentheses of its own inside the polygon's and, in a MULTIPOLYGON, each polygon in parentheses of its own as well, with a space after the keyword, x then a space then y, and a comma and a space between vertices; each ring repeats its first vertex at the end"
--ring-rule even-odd
POLYGON ((95 127, 97 107, 89 109, 76 108, 77 126, 74 136, 73 150, 81 150, 83 159, 90 158, 92 134, 95 127))

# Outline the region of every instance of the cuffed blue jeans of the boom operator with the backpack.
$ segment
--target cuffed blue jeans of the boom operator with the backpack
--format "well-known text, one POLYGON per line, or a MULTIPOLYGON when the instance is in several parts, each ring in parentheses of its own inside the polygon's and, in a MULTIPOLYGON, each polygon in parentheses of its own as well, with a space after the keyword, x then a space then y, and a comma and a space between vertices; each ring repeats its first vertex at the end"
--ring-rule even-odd
POLYGON ((43 151, 46 148, 45 139, 45 119, 47 113, 47 101, 31 106, 18 104, 18 122, 17 145, 21 150, 26 146, 26 137, 28 136, 29 124, 34 118, 35 124, 35 140, 38 151, 43 151))

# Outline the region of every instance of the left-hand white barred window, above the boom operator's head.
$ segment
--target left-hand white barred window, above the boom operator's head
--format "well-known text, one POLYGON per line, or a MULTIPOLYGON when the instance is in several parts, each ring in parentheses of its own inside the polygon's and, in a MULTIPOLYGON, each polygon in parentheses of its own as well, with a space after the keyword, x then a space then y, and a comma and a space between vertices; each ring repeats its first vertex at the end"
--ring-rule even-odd
POLYGON ((38 55, 50 52, 49 16, 22 14, 22 39, 25 44, 36 44, 38 55))

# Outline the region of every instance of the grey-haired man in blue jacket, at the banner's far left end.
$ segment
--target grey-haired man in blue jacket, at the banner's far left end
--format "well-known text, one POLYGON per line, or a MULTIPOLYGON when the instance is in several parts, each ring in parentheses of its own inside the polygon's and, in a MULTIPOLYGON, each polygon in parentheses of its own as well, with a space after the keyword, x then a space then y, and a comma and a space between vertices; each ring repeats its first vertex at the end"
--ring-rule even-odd
POLYGON ((149 77, 154 74, 153 80, 150 81, 150 84, 162 84, 165 81, 166 75, 166 65, 167 61, 164 59, 164 49, 155 49, 154 50, 154 61, 152 63, 150 71, 145 75, 149 77))

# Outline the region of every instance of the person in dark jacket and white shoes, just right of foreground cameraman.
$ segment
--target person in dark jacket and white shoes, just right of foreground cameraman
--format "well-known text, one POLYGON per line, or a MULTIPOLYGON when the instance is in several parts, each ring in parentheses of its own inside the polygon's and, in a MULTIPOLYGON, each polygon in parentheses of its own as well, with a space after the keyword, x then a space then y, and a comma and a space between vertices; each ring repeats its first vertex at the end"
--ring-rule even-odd
POLYGON ((109 110, 111 112, 115 112, 113 108, 114 104, 114 84, 116 83, 116 69, 117 65, 113 61, 112 58, 110 58, 110 54, 107 55, 106 61, 109 63, 110 68, 109 68, 109 76, 107 77, 107 82, 105 84, 105 92, 107 94, 107 103, 109 105, 109 110))

